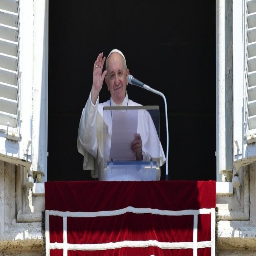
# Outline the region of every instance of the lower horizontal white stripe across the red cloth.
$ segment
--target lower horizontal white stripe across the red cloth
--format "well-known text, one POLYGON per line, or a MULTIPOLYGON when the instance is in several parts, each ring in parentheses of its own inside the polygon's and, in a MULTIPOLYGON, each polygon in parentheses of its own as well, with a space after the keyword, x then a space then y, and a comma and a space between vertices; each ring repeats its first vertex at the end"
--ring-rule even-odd
MULTIPOLYGON (((180 243, 168 243, 158 242, 156 240, 148 241, 122 241, 115 243, 101 243, 101 244, 67 244, 68 250, 76 251, 96 251, 96 250, 108 250, 118 249, 122 247, 148 247, 157 246, 161 249, 193 249, 193 242, 180 242, 180 243)), ((211 241, 197 242, 197 248, 210 247, 211 241)), ((50 243, 50 249, 63 249, 63 243, 50 243)))

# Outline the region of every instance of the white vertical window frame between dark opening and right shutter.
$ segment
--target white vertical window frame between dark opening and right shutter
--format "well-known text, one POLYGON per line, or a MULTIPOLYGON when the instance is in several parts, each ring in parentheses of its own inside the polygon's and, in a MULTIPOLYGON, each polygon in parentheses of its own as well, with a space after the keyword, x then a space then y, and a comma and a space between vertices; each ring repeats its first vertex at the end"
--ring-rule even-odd
POLYGON ((226 58, 226 54, 230 53, 225 52, 226 34, 231 36, 231 25, 226 24, 228 12, 226 8, 231 9, 231 6, 228 4, 225 6, 225 2, 225 0, 216 0, 216 191, 220 194, 231 193, 229 185, 221 185, 221 183, 225 183, 225 177, 229 177, 228 173, 233 171, 232 132, 230 132, 233 128, 233 114, 226 111, 226 104, 230 104, 232 108, 229 99, 232 91, 227 91, 226 83, 230 84, 231 81, 230 78, 229 80, 226 78, 225 73, 228 65, 232 65, 231 57, 226 58))

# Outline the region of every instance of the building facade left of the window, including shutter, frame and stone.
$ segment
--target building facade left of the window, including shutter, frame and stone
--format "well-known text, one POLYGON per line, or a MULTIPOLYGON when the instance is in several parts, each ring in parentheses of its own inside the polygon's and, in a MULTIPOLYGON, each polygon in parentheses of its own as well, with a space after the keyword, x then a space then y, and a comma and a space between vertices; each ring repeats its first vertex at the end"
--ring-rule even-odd
POLYGON ((0 1, 0 255, 44 255, 48 1, 0 1))

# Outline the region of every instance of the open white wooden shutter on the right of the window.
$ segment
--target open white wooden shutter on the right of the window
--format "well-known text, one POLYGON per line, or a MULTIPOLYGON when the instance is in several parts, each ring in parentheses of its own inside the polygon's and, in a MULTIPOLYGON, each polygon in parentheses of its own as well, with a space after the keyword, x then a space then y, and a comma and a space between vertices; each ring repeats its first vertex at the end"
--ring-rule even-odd
POLYGON ((256 161, 256 0, 233 0, 233 160, 256 161))

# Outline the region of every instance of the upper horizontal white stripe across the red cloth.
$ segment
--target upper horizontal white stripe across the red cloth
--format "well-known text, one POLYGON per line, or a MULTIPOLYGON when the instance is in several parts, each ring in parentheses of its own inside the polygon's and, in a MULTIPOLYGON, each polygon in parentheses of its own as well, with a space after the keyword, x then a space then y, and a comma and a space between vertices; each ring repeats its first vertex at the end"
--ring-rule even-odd
MULTIPOLYGON (((214 208, 212 208, 214 209, 214 208)), ((116 216, 125 214, 127 212, 131 213, 151 213, 167 216, 181 216, 181 215, 198 215, 198 214, 210 214, 212 209, 199 209, 199 210, 182 210, 182 211, 170 211, 170 210, 159 210, 152 208, 134 208, 128 206, 123 209, 113 210, 113 211, 99 211, 99 212, 61 212, 50 210, 50 215, 60 216, 60 217, 104 217, 104 216, 116 216)), ((215 210, 215 209, 214 209, 215 210)))

